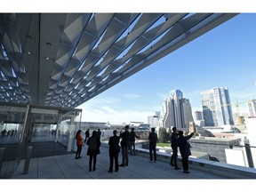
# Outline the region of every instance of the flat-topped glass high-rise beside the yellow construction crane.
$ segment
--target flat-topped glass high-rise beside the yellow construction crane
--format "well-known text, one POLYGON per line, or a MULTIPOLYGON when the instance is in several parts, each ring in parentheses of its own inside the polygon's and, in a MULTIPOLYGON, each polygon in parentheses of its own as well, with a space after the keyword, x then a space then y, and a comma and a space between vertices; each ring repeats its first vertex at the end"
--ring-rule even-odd
POLYGON ((205 126, 234 124, 227 87, 214 87, 201 92, 205 126))

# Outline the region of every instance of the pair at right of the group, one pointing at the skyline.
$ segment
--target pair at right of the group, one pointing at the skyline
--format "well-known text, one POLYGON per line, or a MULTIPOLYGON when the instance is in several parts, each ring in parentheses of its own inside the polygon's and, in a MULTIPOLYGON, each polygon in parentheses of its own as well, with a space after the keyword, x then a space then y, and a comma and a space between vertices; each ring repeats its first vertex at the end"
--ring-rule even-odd
POLYGON ((193 137, 194 132, 188 136, 184 136, 182 131, 178 131, 176 127, 172 127, 171 147, 172 156, 170 164, 174 166, 175 170, 181 168, 177 164, 178 148, 180 148, 180 156, 182 158, 182 168, 184 173, 188 172, 188 156, 191 156, 190 144, 188 140, 193 137))

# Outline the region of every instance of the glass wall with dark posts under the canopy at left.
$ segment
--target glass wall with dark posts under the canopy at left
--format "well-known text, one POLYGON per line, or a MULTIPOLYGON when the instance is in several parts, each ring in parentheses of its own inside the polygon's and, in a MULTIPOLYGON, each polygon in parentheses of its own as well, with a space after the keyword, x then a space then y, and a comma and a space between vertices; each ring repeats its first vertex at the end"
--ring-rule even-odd
POLYGON ((75 108, 1 104, 0 178, 12 177, 20 160, 28 156, 72 153, 81 116, 82 110, 75 108), (31 153, 28 148, 32 148, 31 153))

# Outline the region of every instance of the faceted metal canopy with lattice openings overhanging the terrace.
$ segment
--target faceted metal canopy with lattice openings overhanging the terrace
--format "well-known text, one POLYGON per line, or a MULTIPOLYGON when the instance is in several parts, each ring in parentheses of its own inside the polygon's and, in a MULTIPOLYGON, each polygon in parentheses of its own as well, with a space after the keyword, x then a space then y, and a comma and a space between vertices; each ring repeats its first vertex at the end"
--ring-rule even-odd
POLYGON ((234 16, 0 14, 0 102, 76 108, 234 16))

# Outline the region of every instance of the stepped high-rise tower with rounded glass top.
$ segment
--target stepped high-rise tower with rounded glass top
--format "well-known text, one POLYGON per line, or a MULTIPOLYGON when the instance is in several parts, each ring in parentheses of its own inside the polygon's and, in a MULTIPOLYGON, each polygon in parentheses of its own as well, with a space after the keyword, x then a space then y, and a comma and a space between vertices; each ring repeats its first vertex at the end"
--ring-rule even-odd
POLYGON ((172 90, 170 97, 164 100, 160 126, 188 128, 191 121, 193 121, 193 116, 189 100, 183 98, 180 90, 172 90))

